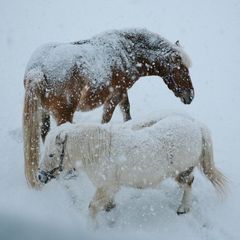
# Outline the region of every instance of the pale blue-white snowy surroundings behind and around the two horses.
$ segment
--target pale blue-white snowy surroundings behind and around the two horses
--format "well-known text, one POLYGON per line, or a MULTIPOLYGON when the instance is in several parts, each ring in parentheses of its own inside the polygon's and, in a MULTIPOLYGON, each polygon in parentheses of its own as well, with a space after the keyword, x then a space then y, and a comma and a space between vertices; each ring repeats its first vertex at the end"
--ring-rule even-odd
MULTIPOLYGON (((240 2, 238 0, 0 0, 0 239, 240 239, 240 2), (196 96, 186 106, 157 77, 129 91, 134 119, 183 111, 212 131, 216 165, 230 179, 220 201, 196 171, 193 208, 177 216, 181 192, 170 180, 159 189, 122 189, 117 208, 93 231, 88 203, 94 188, 78 179, 28 188, 21 134, 23 74, 31 53, 46 42, 68 42, 101 31, 145 27, 180 40, 191 56, 196 96)), ((102 109, 78 113, 99 122, 102 109)), ((117 110, 112 123, 121 122, 117 110)))

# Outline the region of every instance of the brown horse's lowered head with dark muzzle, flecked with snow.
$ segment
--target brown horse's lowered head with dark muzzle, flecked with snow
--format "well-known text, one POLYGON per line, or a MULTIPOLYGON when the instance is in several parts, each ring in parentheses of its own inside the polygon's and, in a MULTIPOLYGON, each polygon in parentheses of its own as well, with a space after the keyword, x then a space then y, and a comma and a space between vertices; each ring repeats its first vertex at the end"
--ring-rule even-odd
MULTIPOLYGON (((190 65, 189 65, 190 66, 190 65)), ((162 76, 168 88, 179 97, 184 104, 190 104, 194 98, 194 88, 189 75, 187 63, 182 57, 175 55, 164 64, 162 76)))

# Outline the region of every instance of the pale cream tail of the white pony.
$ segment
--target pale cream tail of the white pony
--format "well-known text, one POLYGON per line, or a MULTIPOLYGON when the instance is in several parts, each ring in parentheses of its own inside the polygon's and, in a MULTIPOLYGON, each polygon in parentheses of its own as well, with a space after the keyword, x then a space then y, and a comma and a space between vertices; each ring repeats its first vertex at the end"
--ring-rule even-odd
POLYGON ((227 178, 215 167, 213 160, 213 146, 209 130, 202 127, 202 158, 201 169, 211 181, 217 192, 224 196, 227 193, 227 178))

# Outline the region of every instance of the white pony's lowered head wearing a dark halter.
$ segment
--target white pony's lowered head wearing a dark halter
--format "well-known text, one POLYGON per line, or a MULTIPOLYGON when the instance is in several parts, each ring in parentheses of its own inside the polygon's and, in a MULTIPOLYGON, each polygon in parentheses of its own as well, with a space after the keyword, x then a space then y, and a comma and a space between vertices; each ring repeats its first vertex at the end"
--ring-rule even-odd
POLYGON ((38 180, 47 183, 56 178, 64 169, 67 134, 48 134, 45 142, 44 154, 40 164, 38 180))

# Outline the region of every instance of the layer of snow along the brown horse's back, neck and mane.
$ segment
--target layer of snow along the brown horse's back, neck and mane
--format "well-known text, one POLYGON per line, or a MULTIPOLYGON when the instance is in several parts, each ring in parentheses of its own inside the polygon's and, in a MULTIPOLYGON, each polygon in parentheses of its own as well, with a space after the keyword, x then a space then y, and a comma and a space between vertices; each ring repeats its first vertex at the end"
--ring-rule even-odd
POLYGON ((129 72, 127 75, 131 77, 139 76, 143 62, 146 65, 171 62, 175 56, 181 56, 190 67, 183 49, 156 33, 146 29, 114 30, 87 40, 43 45, 30 59, 26 74, 40 70, 49 84, 64 82, 74 66, 92 87, 99 87, 109 81, 113 69, 129 72))

